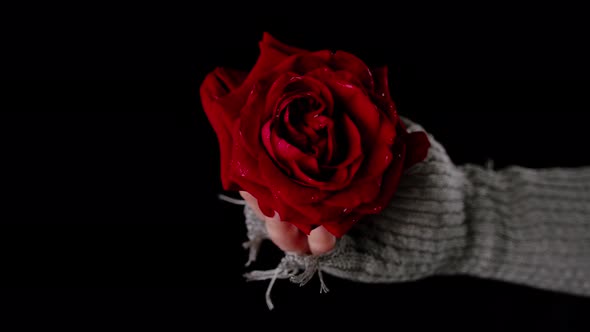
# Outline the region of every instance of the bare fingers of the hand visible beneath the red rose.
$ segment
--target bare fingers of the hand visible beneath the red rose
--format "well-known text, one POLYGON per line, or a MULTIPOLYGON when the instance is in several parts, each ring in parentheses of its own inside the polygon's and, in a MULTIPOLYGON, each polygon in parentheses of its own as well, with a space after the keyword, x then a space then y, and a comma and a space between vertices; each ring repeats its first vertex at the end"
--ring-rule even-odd
POLYGON ((245 191, 240 191, 240 195, 242 195, 248 205, 254 210, 256 216, 264 221, 268 236, 281 250, 300 255, 321 255, 334 249, 336 237, 330 234, 323 226, 312 230, 309 236, 307 236, 297 229, 297 227, 282 221, 276 212, 273 218, 265 216, 260 211, 258 201, 254 196, 245 191))

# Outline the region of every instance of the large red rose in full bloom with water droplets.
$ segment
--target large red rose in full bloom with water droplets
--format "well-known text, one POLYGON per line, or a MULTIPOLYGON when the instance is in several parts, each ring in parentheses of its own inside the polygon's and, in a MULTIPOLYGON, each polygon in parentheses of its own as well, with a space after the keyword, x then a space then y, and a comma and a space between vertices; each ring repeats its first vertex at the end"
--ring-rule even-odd
POLYGON ((323 225, 340 237, 380 212, 430 146, 424 133, 406 132, 386 68, 269 34, 250 73, 217 68, 201 99, 219 139, 224 189, 249 192, 265 215, 277 211, 307 234, 323 225))

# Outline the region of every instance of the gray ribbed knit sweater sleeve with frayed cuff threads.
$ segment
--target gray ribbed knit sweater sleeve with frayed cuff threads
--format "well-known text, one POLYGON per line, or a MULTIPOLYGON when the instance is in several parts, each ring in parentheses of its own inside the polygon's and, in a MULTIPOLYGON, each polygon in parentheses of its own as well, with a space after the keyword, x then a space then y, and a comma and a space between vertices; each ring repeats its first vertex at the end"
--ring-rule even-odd
MULTIPOLYGON (((247 277, 305 283, 317 271, 390 283, 464 274, 590 296, 590 167, 455 166, 429 139, 427 158, 404 174, 389 206, 332 252, 287 254, 276 270, 247 277)), ((245 215, 253 260, 266 233, 248 206, 245 215)))

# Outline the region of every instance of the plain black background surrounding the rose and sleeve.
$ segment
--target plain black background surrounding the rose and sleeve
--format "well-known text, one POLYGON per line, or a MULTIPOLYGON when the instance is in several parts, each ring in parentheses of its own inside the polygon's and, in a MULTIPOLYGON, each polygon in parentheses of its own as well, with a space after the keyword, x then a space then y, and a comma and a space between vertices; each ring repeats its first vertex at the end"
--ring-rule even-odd
MULTIPOLYGON (((251 67, 263 31, 387 64, 400 112, 458 164, 590 165, 576 9, 301 7, 3 11, 0 324, 588 329, 588 299, 469 277, 328 277, 325 295, 315 279, 278 282, 268 312, 266 283, 241 277, 241 208, 216 198, 218 147, 198 97, 216 66, 251 67)), ((279 258, 266 244, 255 267, 279 258)))

